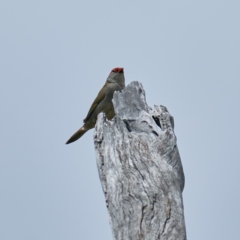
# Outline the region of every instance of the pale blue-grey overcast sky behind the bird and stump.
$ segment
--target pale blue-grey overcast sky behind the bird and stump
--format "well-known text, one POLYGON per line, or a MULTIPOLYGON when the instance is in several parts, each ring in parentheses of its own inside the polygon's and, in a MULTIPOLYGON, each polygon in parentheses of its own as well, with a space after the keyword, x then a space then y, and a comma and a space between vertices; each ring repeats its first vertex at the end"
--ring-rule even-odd
POLYGON ((114 67, 175 119, 189 240, 240 239, 240 2, 0 0, 0 240, 111 240, 82 125, 114 67))

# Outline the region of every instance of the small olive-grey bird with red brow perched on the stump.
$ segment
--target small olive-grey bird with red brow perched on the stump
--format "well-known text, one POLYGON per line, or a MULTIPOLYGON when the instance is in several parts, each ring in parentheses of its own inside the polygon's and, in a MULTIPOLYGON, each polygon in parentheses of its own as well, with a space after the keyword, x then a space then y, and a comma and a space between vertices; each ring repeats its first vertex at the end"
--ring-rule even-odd
POLYGON ((124 87, 125 78, 123 68, 114 68, 94 100, 87 117, 83 120, 83 126, 69 138, 66 144, 75 142, 89 129, 94 128, 100 112, 104 112, 107 119, 111 120, 115 116, 112 103, 113 93, 115 91, 121 91, 124 87))

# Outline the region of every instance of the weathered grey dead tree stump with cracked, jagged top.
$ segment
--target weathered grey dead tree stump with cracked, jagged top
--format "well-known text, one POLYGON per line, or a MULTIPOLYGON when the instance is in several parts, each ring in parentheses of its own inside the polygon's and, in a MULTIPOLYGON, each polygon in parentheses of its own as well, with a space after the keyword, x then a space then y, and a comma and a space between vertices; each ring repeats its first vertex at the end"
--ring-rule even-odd
POLYGON ((139 82, 115 92, 113 103, 115 118, 99 114, 94 140, 114 239, 185 240, 173 117, 166 107, 148 107, 139 82))

